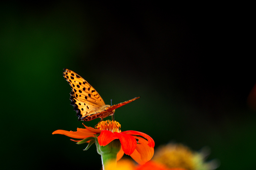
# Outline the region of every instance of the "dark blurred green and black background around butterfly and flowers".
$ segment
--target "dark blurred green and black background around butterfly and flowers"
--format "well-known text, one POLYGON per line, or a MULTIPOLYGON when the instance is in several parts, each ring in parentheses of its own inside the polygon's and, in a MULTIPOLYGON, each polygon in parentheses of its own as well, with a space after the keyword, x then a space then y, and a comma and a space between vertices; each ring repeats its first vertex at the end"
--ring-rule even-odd
MULTIPOLYGON (((218 170, 256 169, 256 83, 247 11, 204 4, 38 1, 0 4, 0 169, 93 169, 101 159, 54 130, 83 127, 70 105, 68 68, 118 108, 122 131, 156 148, 211 148, 218 170), (189 5, 189 4, 188 4, 189 5)), ((84 122, 94 126, 99 119, 84 122)))

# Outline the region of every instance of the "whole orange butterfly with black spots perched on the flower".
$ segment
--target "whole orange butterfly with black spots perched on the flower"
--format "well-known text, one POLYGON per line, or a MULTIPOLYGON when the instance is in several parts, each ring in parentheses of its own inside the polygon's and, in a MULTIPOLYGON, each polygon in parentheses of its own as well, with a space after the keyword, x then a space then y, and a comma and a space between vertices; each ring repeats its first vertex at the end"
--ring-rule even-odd
POLYGON ((99 93, 85 79, 67 68, 63 70, 63 77, 72 88, 70 92, 70 105, 73 105, 79 121, 91 121, 96 118, 100 118, 102 121, 103 118, 108 116, 112 116, 113 119, 116 108, 140 98, 135 97, 113 106, 105 105, 99 93))

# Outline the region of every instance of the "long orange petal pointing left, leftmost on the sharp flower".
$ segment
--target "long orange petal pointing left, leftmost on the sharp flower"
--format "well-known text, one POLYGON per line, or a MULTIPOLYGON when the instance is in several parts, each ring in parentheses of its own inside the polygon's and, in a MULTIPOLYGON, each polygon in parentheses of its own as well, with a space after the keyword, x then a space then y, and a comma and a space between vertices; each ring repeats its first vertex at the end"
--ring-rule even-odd
POLYGON ((52 132, 52 134, 61 134, 61 135, 69 136, 71 138, 84 139, 84 138, 93 136, 96 133, 93 133, 92 131, 87 129, 77 128, 76 132, 67 131, 67 130, 55 130, 54 132, 52 132))

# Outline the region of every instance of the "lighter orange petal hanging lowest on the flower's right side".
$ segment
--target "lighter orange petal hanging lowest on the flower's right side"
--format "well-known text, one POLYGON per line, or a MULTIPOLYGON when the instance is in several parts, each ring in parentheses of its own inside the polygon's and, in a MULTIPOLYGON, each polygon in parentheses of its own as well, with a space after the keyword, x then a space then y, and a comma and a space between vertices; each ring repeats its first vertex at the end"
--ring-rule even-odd
POLYGON ((131 154, 132 159, 138 164, 145 164, 149 161, 154 155, 154 148, 148 146, 148 141, 139 136, 134 136, 136 139, 139 139, 136 146, 136 150, 131 154))

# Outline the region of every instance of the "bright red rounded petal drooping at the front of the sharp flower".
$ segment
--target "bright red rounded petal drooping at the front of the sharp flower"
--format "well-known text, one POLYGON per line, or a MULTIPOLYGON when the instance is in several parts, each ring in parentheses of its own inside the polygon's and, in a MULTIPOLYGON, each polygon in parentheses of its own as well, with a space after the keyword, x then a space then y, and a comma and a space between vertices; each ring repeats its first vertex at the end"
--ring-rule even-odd
POLYGON ((131 155, 134 152, 137 145, 137 141, 134 138, 134 136, 131 136, 122 132, 121 133, 114 132, 114 133, 120 140, 122 149, 125 152, 125 154, 131 155))

